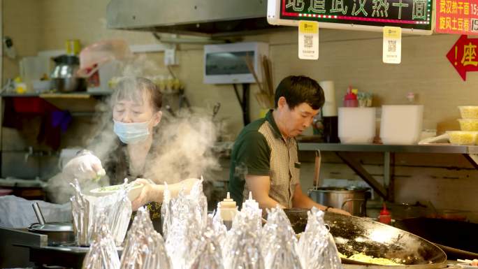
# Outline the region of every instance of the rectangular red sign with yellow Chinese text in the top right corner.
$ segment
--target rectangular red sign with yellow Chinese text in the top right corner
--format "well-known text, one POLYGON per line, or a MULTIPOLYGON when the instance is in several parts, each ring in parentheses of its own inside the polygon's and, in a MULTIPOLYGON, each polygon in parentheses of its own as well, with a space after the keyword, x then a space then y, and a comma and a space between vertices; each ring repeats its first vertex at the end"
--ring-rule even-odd
POLYGON ((478 0, 437 0, 435 32, 478 34, 478 0))

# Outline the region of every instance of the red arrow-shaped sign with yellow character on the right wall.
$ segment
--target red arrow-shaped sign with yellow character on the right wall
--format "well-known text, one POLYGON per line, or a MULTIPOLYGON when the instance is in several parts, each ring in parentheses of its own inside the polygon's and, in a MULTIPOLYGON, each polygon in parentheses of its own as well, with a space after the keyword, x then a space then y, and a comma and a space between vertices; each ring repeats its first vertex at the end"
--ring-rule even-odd
POLYGON ((477 48, 478 38, 463 35, 447 53, 448 60, 463 80, 466 80, 466 72, 478 71, 477 48))

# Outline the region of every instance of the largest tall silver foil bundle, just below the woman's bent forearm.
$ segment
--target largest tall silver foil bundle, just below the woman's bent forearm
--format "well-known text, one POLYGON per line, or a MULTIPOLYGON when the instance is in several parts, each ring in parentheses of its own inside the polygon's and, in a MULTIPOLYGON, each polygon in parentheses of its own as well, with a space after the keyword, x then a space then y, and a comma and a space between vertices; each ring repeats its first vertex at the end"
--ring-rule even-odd
POLYGON ((208 203, 203 194, 203 180, 198 180, 190 194, 180 191, 177 198, 164 201, 166 252, 174 268, 189 268, 200 247, 201 232, 208 218, 208 203))

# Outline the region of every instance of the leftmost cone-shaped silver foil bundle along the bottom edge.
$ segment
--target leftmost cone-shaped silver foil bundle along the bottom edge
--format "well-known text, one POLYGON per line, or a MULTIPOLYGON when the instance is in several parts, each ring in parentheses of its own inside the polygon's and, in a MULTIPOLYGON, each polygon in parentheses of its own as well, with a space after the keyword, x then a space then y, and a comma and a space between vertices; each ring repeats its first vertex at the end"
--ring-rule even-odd
POLYGON ((106 215, 96 216, 94 240, 83 260, 83 269, 119 269, 119 256, 106 215))

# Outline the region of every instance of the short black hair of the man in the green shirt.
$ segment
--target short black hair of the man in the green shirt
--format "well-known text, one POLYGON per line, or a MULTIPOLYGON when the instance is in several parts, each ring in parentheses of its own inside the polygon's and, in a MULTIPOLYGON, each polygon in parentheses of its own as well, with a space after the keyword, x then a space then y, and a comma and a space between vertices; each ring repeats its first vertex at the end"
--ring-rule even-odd
POLYGON ((284 96, 290 109, 307 103, 317 110, 325 103, 324 90, 319 83, 303 75, 290 75, 279 83, 275 89, 275 108, 281 96, 284 96))

